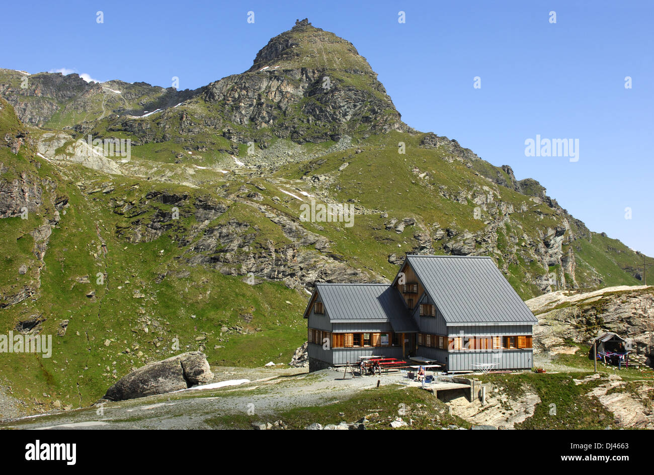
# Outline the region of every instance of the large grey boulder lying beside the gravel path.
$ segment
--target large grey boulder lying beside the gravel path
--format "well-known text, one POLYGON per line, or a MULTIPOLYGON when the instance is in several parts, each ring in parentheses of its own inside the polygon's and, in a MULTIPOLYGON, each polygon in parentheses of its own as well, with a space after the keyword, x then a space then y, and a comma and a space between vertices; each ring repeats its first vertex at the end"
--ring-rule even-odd
POLYGON ((206 384, 212 379, 213 373, 204 353, 182 353, 133 370, 107 389, 104 399, 123 401, 170 393, 198 384, 206 384))

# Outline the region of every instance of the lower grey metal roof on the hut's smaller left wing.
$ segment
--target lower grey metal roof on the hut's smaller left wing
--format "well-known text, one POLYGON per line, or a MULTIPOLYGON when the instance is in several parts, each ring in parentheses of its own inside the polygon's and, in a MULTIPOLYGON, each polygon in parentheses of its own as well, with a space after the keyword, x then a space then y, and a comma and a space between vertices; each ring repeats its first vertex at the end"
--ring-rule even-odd
POLYGON ((330 321, 390 323, 395 332, 418 331, 402 295, 388 284, 316 284, 330 321))

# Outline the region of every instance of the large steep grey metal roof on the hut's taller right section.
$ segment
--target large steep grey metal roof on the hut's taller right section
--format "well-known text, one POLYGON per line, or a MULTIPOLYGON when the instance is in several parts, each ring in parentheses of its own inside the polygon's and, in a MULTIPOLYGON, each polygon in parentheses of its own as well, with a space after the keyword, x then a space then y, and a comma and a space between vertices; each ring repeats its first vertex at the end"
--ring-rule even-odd
POLYGON ((448 325, 538 323, 490 257, 407 255, 448 325))

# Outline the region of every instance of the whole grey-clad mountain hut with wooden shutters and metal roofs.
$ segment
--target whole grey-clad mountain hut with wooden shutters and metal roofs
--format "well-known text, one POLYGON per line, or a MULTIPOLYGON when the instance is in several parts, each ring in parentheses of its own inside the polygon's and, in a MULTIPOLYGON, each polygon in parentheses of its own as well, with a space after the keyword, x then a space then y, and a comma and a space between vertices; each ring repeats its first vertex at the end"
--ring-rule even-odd
POLYGON ((449 255, 407 255, 392 284, 318 283, 304 318, 309 371, 371 355, 530 369, 538 323, 490 257, 449 255))

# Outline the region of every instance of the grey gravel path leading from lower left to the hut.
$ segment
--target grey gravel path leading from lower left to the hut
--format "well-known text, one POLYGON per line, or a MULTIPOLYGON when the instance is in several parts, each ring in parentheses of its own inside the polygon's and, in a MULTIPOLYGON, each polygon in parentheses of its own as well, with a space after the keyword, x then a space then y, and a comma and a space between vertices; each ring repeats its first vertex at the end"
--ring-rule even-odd
POLYGON ((215 368, 215 382, 249 379, 250 383, 220 389, 182 391, 107 402, 56 414, 0 423, 16 429, 207 429, 205 419, 226 414, 254 414, 266 419, 273 410, 317 406, 351 397, 361 389, 402 380, 401 374, 343 380, 342 371, 306 369, 215 368))

